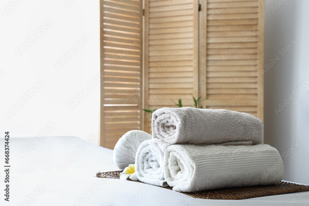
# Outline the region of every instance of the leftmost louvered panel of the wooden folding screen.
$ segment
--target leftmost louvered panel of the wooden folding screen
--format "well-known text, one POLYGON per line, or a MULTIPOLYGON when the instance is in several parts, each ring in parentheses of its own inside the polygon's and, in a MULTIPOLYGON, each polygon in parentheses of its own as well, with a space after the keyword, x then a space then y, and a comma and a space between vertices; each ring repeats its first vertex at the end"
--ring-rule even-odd
POLYGON ((101 142, 113 149, 142 130, 142 0, 104 0, 101 6, 101 142))

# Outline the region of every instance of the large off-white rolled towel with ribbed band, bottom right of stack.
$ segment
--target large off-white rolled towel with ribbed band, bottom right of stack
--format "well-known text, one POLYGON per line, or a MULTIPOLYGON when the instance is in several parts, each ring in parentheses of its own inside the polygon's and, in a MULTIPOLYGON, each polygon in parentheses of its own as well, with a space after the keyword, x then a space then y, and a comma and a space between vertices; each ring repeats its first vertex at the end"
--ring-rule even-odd
POLYGON ((164 153, 164 177, 180 192, 272 185, 283 172, 281 156, 270 145, 171 145, 164 153))

